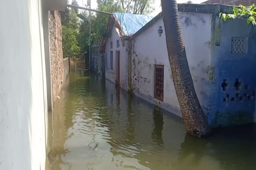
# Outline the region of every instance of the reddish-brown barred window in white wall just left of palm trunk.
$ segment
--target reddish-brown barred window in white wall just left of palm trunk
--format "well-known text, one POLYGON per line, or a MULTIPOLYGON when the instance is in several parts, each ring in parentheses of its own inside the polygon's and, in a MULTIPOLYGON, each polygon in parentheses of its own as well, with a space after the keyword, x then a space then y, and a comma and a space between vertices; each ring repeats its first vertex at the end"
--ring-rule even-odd
POLYGON ((155 87, 154 97, 160 101, 164 101, 164 66, 155 65, 155 87))

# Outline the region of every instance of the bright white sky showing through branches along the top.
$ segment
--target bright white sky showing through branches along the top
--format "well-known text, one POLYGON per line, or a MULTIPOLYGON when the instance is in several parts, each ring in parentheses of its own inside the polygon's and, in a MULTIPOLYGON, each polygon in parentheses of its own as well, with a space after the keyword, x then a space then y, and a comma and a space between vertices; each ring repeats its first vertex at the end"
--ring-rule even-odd
MULTIPOLYGON (((72 0, 70 0, 70 1, 72 1, 72 0)), ((206 1, 206 0, 192 0, 192 2, 194 4, 200 4, 201 2, 204 2, 204 1, 206 1)), ((81 6, 81 7, 83 6, 83 3, 87 4, 87 0, 77 0, 77 2, 78 2, 78 5, 81 6)), ((177 0, 177 3, 184 3, 184 2, 187 2, 187 0, 177 0)), ((160 7, 160 4, 161 4, 161 0, 155 0, 155 3, 154 3, 155 11, 152 12, 150 15, 156 16, 157 14, 159 14, 162 11, 162 9, 160 7)), ((91 0, 91 8, 92 9, 97 8, 97 1, 96 0, 91 0)))

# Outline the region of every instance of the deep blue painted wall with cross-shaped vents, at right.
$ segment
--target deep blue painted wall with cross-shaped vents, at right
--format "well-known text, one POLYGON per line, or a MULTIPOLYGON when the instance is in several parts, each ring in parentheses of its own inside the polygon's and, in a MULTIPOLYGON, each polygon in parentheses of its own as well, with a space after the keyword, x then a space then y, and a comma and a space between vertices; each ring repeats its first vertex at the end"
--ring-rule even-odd
POLYGON ((212 48, 211 53, 211 66, 215 67, 215 82, 213 81, 211 85, 209 124, 211 126, 232 126, 253 122, 256 87, 256 29, 248 26, 244 19, 221 23, 221 41, 219 46, 212 48), (248 37, 247 54, 231 53, 232 37, 248 37), (224 79, 229 83, 226 91, 222 88, 224 79), (240 91, 234 86, 236 79, 241 80, 240 91), (224 101, 225 98, 227 101, 224 101), (235 101, 231 101, 231 98, 235 101))

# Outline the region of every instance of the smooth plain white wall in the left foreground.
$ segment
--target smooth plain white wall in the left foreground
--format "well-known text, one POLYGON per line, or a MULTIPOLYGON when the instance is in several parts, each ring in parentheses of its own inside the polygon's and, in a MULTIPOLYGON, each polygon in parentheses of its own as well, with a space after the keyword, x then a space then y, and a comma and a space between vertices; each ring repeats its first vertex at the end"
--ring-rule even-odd
POLYGON ((0 169, 45 169, 46 74, 41 0, 0 6, 0 169))

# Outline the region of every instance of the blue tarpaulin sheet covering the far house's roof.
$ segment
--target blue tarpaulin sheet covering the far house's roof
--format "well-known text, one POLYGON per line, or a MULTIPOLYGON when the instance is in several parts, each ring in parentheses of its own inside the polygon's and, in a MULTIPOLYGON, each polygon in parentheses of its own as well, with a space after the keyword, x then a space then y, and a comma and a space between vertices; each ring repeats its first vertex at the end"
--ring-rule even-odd
POLYGON ((139 29, 141 29, 145 24, 154 18, 153 16, 119 12, 114 13, 113 15, 118 19, 124 34, 127 36, 136 33, 139 31, 139 29))

